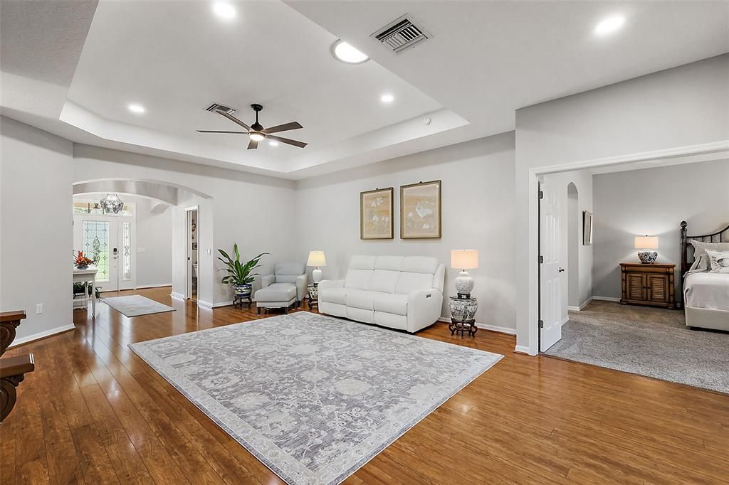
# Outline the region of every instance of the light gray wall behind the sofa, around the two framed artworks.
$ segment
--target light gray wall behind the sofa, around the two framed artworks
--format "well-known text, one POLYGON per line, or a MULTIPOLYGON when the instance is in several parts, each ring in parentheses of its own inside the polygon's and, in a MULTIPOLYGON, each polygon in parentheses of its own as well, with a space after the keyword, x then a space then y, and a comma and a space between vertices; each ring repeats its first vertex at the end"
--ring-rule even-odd
MULTIPOLYGON (((297 186, 297 257, 308 251, 327 256, 324 278, 344 277, 351 256, 434 256, 446 267, 445 296, 456 294, 451 249, 479 250, 479 268, 470 273, 479 308, 478 323, 515 328, 514 134, 504 133, 408 157, 386 160, 297 186), (440 179, 443 237, 399 239, 399 186, 440 179), (394 187, 394 239, 359 239, 359 193, 394 187)), ((443 316, 448 316, 443 304, 443 316)))

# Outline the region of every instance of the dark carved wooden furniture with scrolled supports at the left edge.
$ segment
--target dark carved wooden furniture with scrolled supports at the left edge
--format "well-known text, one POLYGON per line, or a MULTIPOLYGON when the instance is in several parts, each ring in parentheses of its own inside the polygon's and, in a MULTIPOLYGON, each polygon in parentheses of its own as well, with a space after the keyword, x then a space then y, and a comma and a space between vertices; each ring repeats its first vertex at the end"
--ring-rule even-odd
MULTIPOLYGON (((26 318, 26 312, 0 312, 0 355, 15 339, 15 329, 20 320, 26 318)), ((17 401, 17 387, 23 382, 28 372, 34 371, 33 354, 17 355, 0 359, 0 423, 4 421, 17 401)))

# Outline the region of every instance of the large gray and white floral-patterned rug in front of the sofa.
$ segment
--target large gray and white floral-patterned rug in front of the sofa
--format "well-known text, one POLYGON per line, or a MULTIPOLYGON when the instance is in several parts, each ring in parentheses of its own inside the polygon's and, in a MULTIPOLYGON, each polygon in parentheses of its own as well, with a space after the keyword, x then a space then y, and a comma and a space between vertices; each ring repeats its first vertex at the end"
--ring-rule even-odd
POLYGON ((297 312, 130 344, 289 484, 338 484, 503 355, 297 312))

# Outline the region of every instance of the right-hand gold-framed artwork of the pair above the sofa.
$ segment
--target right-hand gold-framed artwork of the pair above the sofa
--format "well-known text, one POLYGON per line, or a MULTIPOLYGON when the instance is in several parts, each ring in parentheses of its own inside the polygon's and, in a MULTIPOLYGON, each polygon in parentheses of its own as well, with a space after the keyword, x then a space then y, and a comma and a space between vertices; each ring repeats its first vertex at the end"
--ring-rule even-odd
POLYGON ((440 236, 440 180, 400 186, 400 238, 440 236))

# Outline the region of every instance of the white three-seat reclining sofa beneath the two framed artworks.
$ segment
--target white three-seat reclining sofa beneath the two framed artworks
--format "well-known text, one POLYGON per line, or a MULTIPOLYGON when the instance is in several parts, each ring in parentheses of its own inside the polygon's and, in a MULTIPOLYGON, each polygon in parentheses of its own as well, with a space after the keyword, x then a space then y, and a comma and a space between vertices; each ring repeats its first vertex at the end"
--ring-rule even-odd
POLYGON ((353 256, 346 279, 319 283, 319 312, 410 333, 435 323, 445 266, 424 256, 353 256))

